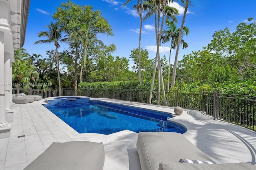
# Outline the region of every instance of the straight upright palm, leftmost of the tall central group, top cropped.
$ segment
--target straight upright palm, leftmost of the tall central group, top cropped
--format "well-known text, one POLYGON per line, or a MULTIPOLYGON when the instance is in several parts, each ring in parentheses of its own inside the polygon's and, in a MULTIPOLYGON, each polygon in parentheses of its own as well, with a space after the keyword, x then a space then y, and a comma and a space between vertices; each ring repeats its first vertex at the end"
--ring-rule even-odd
MULTIPOLYGON (((124 6, 126 5, 126 4, 128 4, 128 3, 130 3, 131 2, 131 0, 127 0, 125 3, 124 3, 124 6)), ((137 12, 138 12, 138 14, 139 14, 139 16, 140 16, 140 35, 139 35, 139 55, 138 55, 138 66, 139 66, 139 68, 138 68, 138 72, 139 72, 139 81, 140 81, 140 84, 142 84, 142 78, 141 78, 141 57, 140 57, 140 55, 141 55, 141 47, 140 47, 140 45, 141 45, 141 31, 142 31, 142 21, 143 21, 143 0, 141 0, 141 4, 140 4, 140 0, 138 0, 137 1, 137 5, 134 5, 134 8, 135 9, 137 9, 137 12)))

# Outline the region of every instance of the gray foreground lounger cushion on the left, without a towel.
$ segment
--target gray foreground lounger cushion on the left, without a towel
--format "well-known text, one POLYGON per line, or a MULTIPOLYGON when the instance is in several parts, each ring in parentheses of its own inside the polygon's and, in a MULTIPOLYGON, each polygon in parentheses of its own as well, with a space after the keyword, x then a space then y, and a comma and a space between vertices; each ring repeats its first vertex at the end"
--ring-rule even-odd
POLYGON ((102 170, 104 161, 103 143, 54 142, 25 170, 102 170))

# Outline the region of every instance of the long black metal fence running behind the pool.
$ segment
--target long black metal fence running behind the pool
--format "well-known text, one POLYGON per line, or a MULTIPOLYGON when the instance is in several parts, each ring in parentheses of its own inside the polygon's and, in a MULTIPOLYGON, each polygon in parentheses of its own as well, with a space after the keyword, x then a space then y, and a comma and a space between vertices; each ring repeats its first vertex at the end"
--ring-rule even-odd
MULTIPOLYGON (((16 92, 17 89, 13 89, 13 94, 16 92)), ((32 89, 28 92, 20 89, 20 93, 41 95, 42 98, 59 96, 58 89, 32 89)), ((74 89, 61 89, 61 94, 62 96, 73 96, 74 89)), ((213 119, 234 123, 256 131, 256 96, 174 90, 165 92, 167 103, 164 104, 162 92, 157 90, 152 91, 151 100, 150 90, 141 89, 78 89, 77 95, 202 110, 203 113, 212 115, 213 119)))

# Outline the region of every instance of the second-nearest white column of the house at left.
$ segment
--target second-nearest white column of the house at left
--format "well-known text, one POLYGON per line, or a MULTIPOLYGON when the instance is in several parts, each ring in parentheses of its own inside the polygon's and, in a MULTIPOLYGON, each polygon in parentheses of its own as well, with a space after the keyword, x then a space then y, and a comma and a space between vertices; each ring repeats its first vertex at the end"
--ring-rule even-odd
POLYGON ((4 53, 4 90, 5 90, 5 113, 12 113, 10 107, 10 53, 4 53))

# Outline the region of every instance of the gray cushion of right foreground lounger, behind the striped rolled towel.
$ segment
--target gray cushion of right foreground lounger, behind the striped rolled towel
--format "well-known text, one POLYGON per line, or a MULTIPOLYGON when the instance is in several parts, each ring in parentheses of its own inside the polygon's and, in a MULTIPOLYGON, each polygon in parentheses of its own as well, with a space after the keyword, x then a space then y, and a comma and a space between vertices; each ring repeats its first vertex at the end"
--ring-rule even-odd
POLYGON ((174 132, 140 132, 137 151, 142 170, 157 170, 161 162, 180 159, 212 161, 182 134, 174 132))

